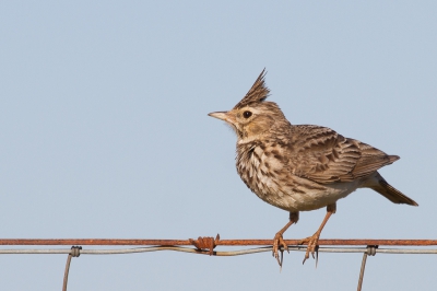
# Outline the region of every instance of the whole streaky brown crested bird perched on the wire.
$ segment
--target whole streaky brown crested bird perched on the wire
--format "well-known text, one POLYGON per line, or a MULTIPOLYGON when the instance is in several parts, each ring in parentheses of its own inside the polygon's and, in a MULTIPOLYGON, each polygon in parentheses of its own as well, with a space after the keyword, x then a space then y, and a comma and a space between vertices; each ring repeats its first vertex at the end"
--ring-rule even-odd
POLYGON ((264 68, 233 109, 209 116, 224 120, 235 131, 236 167, 246 186, 263 201, 290 212, 288 222, 273 237, 272 255, 281 267, 283 252, 288 252, 283 234, 297 223, 300 211, 327 208, 319 229, 298 243, 307 244, 305 264, 309 254, 312 258, 318 255, 321 231, 335 213, 336 201, 357 188, 370 188, 393 203, 418 206, 378 173, 398 161, 398 155, 328 127, 292 125, 276 103, 267 101, 265 73, 264 68))

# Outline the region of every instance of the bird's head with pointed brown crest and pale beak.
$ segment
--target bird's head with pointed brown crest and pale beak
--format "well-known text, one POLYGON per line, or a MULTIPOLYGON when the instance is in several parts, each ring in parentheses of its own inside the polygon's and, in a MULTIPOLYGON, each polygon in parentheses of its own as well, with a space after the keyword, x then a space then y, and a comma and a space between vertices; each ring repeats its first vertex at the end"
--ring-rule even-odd
POLYGON ((286 121, 276 103, 265 102, 270 91, 264 84, 264 72, 262 70, 246 96, 232 110, 209 114, 231 125, 238 140, 256 139, 267 135, 277 121, 286 121))

